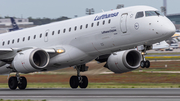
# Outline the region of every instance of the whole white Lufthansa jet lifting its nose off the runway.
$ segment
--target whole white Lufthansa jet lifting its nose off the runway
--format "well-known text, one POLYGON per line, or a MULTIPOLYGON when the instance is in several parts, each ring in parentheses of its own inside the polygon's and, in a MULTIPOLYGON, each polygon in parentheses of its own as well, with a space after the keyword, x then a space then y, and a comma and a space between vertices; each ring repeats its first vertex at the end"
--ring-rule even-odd
POLYGON ((106 62, 105 67, 114 73, 132 71, 143 61, 134 47, 144 45, 148 49, 174 33, 172 22, 148 6, 8 32, 0 34, 0 74, 15 72, 8 80, 9 88, 25 89, 27 80, 20 73, 74 66, 77 76, 70 78, 71 88, 86 88, 88 78, 80 72, 87 71, 87 62, 106 62))

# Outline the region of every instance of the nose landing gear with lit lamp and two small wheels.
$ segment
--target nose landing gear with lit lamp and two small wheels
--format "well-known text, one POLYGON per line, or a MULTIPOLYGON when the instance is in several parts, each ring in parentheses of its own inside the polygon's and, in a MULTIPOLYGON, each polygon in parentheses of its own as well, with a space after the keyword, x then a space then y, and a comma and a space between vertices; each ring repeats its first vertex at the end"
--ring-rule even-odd
POLYGON ((147 49, 149 49, 150 47, 149 46, 144 46, 144 50, 142 50, 142 52, 141 52, 141 54, 142 54, 142 61, 141 61, 141 63, 140 63, 140 66, 141 66, 141 68, 149 68, 150 67, 150 62, 149 62, 149 60, 146 60, 145 59, 145 57, 144 57, 144 55, 146 55, 147 53, 146 53, 146 50, 147 49))

